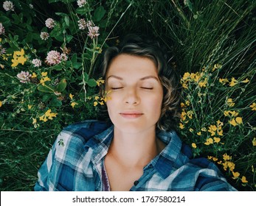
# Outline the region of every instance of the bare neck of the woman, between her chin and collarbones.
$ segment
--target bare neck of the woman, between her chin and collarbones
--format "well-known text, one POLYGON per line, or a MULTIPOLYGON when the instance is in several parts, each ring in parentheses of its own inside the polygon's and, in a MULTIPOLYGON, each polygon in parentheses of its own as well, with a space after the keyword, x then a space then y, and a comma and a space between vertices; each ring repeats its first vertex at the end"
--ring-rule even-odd
POLYGON ((155 128, 138 133, 124 133, 114 128, 108 153, 125 166, 146 166, 163 148, 163 143, 156 139, 155 128))

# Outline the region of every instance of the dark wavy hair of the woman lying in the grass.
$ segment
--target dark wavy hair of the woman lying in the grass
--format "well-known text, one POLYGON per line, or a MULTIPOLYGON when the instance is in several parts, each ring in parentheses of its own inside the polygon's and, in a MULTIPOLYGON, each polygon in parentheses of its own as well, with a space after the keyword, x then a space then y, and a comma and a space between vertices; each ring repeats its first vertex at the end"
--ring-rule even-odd
MULTIPOLYGON (((180 117, 181 91, 177 75, 168 64, 167 54, 163 51, 162 46, 156 40, 148 40, 138 35, 127 35, 119 46, 105 49, 101 65, 103 79, 105 79, 111 60, 120 54, 147 57, 153 60, 164 90, 161 116, 156 126, 165 131, 176 129, 180 117)), ((106 106, 103 107, 102 112, 101 117, 109 119, 106 106)))

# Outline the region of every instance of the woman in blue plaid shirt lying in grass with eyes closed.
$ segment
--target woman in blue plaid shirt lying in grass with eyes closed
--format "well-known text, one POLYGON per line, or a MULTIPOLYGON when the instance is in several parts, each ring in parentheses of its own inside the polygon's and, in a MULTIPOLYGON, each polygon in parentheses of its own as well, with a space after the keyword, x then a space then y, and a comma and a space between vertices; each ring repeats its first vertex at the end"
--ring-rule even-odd
POLYGON ((111 121, 63 129, 35 191, 235 191, 176 135, 178 83, 158 43, 129 36, 106 49, 103 77, 111 121))

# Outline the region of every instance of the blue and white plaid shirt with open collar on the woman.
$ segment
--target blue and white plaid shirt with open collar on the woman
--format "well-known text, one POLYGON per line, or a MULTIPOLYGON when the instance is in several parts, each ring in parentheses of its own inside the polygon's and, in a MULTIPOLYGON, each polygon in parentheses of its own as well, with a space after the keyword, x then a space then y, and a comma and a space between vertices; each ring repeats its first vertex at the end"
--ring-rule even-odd
MULTIPOLYGON (((106 191, 104 159, 113 125, 83 121, 63 129, 38 171, 35 191, 106 191)), ((176 132, 159 132, 167 144, 143 169, 131 191, 235 191, 206 158, 192 158, 176 132)))

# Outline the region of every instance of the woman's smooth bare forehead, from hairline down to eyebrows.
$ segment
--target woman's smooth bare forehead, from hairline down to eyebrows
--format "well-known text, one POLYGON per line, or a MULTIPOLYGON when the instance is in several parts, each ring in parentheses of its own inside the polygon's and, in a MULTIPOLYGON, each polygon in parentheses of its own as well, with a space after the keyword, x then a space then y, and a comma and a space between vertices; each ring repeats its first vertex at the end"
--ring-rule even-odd
POLYGON ((110 75, 154 75, 158 77, 156 64, 148 57, 119 54, 108 65, 106 77, 110 75))

